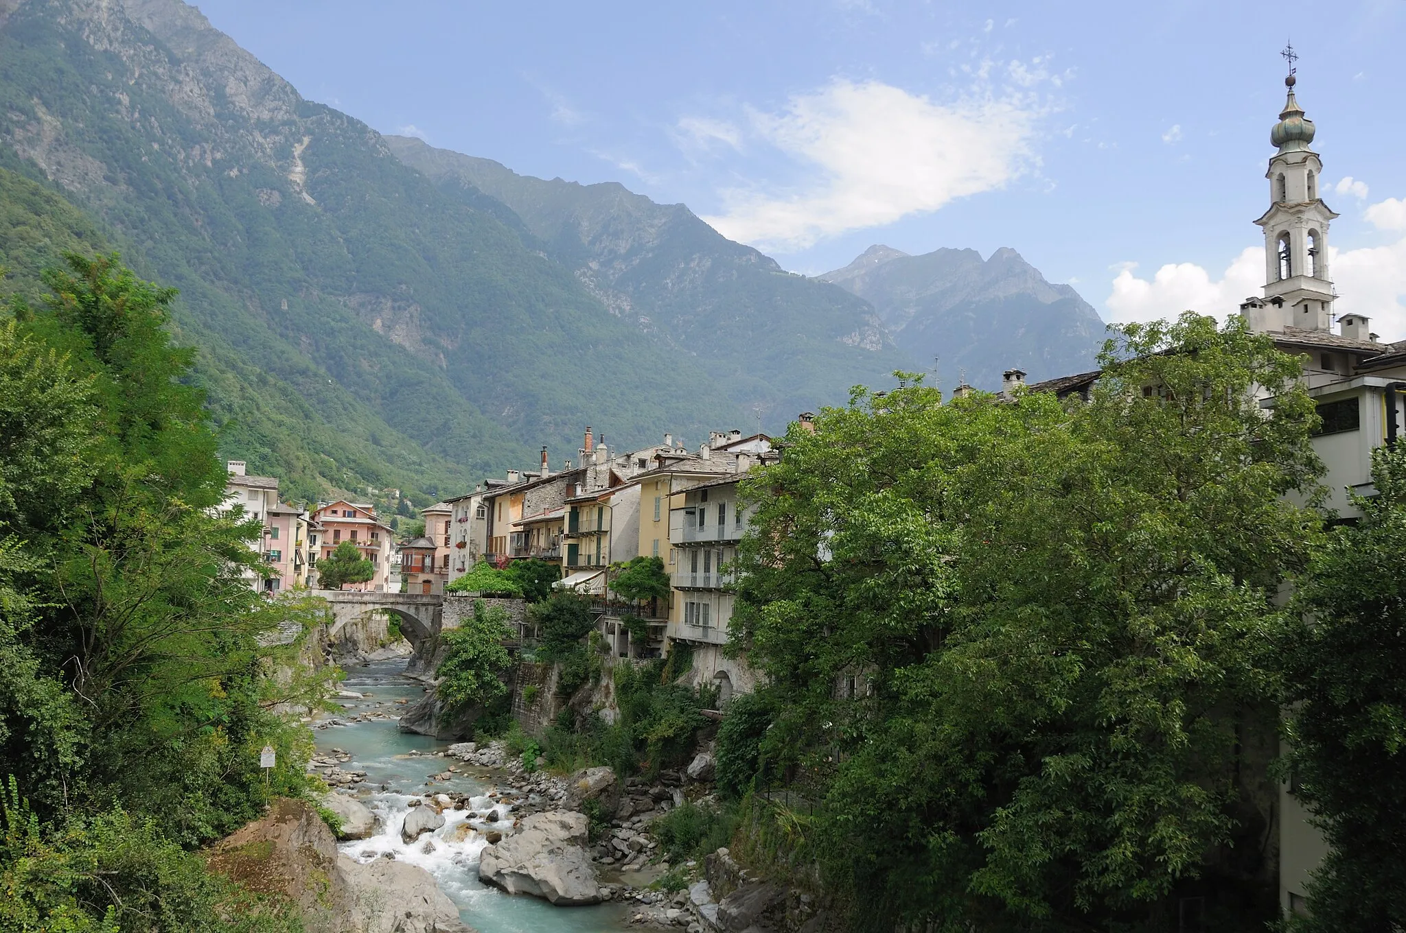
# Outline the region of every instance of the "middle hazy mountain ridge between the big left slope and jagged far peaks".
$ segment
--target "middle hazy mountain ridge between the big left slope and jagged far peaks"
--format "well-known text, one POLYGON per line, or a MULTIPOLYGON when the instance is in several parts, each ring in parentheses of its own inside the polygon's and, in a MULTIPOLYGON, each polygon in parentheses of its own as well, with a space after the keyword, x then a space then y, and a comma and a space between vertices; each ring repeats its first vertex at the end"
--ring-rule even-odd
POLYGON ((489 159, 384 136, 446 194, 506 205, 505 222, 544 250, 623 322, 671 358, 693 360, 728 402, 776 427, 837 403, 855 384, 887 382, 904 365, 868 302, 787 273, 734 243, 682 204, 655 204, 620 184, 520 176, 489 159))

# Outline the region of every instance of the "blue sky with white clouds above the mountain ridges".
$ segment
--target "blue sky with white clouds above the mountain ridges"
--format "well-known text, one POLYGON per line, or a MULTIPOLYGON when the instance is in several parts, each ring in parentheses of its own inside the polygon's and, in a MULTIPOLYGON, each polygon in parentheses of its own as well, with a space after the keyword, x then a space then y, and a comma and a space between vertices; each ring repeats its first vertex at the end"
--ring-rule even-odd
POLYGON ((682 201, 801 273, 870 243, 1011 246, 1108 319, 1225 313, 1263 284, 1246 250, 1292 38, 1339 311, 1406 337, 1406 0, 200 8, 382 132, 682 201))

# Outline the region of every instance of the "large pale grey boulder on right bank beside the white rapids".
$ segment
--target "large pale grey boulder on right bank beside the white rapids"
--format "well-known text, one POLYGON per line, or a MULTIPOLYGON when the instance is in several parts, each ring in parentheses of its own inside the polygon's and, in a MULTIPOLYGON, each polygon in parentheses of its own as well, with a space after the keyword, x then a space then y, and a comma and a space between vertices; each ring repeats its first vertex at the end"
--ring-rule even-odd
POLYGON ((560 906, 599 903, 600 887, 586 854, 585 814, 533 814, 502 842, 484 849, 478 878, 508 894, 530 894, 560 906))

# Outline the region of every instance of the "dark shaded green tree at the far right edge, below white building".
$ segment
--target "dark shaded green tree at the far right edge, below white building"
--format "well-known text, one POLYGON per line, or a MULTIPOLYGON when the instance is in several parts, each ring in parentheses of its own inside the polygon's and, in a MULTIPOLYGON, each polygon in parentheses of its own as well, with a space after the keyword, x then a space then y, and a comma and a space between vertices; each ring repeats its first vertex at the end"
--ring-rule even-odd
POLYGON ((1291 785, 1329 843, 1303 930, 1406 926, 1406 451, 1376 450, 1372 485, 1315 555, 1281 641, 1291 785))

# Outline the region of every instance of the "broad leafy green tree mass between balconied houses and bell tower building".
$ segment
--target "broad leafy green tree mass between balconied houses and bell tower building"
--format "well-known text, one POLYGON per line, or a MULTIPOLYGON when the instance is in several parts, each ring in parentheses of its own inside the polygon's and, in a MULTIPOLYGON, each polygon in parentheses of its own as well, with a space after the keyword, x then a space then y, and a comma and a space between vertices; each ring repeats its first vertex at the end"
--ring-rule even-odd
POLYGON ((824 801, 856 923, 1160 929, 1194 884, 1272 916, 1254 774, 1313 405, 1240 323, 1128 326, 1101 361, 1087 403, 858 392, 744 482, 758 757, 824 801))

